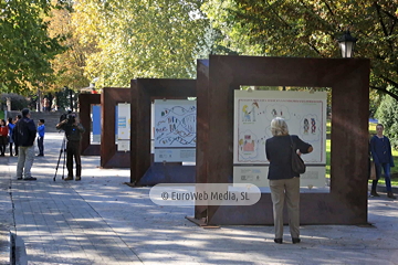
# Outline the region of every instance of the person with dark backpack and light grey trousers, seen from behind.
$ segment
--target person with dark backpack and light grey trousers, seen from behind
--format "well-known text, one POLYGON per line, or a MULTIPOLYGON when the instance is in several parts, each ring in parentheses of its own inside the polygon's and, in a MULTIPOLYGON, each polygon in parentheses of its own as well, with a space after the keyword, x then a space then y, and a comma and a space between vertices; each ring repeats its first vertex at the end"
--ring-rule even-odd
POLYGON ((13 140, 19 148, 17 179, 18 180, 36 180, 31 174, 31 168, 34 160, 34 139, 36 128, 33 119, 30 118, 30 110, 22 109, 22 118, 15 124, 13 140))

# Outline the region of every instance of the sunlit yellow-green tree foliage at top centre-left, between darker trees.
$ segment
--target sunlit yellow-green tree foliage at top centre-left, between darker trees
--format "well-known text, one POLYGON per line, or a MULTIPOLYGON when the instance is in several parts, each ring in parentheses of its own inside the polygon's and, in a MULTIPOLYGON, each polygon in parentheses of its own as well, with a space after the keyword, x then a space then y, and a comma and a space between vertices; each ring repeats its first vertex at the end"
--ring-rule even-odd
POLYGON ((202 0, 85 0, 74 6, 82 44, 95 43, 84 67, 96 86, 129 86, 137 77, 195 77, 207 29, 202 0))

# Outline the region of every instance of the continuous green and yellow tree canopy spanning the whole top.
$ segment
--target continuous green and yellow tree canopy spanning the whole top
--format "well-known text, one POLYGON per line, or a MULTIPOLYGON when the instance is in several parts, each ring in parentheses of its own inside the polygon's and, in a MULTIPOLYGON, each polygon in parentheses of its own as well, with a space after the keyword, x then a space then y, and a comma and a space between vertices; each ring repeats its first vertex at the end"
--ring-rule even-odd
POLYGON ((0 92, 195 77, 209 53, 339 57, 349 29, 398 99, 397 24, 390 0, 0 0, 0 92))

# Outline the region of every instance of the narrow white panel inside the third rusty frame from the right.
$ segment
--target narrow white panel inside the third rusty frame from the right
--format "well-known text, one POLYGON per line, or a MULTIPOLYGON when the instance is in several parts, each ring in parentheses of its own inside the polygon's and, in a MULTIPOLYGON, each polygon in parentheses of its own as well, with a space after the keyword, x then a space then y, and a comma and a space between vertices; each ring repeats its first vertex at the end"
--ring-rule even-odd
POLYGON ((117 151, 129 151, 130 104, 117 104, 117 151))

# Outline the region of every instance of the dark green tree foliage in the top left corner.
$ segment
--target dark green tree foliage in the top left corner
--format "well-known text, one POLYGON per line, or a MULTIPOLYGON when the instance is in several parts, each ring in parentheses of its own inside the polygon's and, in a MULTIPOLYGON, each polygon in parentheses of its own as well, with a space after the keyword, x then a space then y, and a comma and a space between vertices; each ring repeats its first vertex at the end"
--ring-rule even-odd
POLYGON ((62 51, 42 20, 50 8, 43 0, 0 1, 0 92, 27 94, 50 80, 50 60, 62 51))

